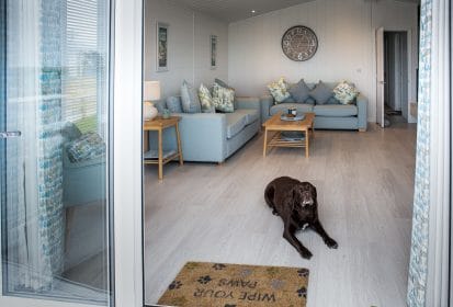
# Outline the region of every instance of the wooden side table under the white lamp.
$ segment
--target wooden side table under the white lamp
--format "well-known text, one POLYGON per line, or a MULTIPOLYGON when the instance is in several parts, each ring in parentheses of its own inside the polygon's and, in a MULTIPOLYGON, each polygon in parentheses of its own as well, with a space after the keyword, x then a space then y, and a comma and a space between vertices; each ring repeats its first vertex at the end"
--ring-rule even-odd
MULTIPOLYGON (((158 155, 157 159, 144 159, 145 164, 158 164, 159 166, 159 180, 163 180, 163 166, 170 162, 173 159, 179 158, 179 163, 182 166, 184 162, 182 160, 182 150, 181 150, 181 138, 179 134, 179 126, 178 123, 181 121, 180 116, 170 116, 169 118, 162 118, 161 116, 157 116, 152 121, 145 121, 144 122, 144 132, 146 133, 146 140, 148 140, 148 132, 157 132, 158 133, 158 155), (169 152, 166 155, 162 149, 162 132, 166 128, 174 127, 177 132, 177 141, 178 141, 178 151, 177 152, 169 152)), ((145 141, 147 145, 147 141, 145 141)), ((145 146, 147 147, 147 146, 145 146)))

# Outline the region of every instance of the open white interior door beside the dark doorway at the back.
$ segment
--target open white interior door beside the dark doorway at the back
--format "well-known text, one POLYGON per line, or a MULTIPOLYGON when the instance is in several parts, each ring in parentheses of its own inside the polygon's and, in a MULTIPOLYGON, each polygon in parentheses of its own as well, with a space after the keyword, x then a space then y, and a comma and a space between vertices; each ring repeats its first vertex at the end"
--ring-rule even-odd
POLYGON ((376 30, 376 123, 384 128, 384 27, 376 30))

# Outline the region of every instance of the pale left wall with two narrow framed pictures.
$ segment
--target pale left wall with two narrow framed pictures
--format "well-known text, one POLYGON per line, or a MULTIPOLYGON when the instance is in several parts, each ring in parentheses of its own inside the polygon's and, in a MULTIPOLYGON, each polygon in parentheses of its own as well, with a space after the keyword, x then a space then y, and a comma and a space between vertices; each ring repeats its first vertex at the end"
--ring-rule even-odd
POLYGON ((145 80, 159 80, 161 96, 179 94, 182 81, 199 87, 228 79, 228 25, 172 0, 145 2, 145 80), (156 23, 169 25, 168 71, 156 72, 156 23), (211 69, 211 35, 217 35, 217 68, 211 69))

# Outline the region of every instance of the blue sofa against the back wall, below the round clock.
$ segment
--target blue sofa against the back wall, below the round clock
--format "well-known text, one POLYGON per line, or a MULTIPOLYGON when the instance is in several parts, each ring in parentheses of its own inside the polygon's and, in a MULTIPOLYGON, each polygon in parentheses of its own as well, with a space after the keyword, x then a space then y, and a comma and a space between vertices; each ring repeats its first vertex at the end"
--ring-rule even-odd
MULTIPOLYGON (((326 82, 325 84, 333 90, 338 83, 326 82)), ((315 87, 313 83, 307 83, 307 86, 310 89, 315 87)), ((315 128, 318 129, 366 130, 367 99, 362 94, 356 98, 355 103, 347 105, 339 103, 333 98, 326 104, 317 104, 312 98, 302 103, 284 102, 275 104, 271 95, 262 96, 260 101, 263 122, 278 112, 286 112, 288 107, 295 107, 299 113, 315 113, 315 128)))

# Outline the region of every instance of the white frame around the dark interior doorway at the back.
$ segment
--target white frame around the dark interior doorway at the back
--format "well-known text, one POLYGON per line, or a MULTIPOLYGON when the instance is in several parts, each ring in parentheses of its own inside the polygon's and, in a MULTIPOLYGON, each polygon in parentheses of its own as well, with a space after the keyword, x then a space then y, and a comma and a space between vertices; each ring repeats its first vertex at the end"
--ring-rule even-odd
MULTIPOLYGON (((416 70, 414 69, 412 71, 412 67, 418 67, 418 65, 416 65, 415 61, 417 61, 418 59, 416 57, 414 57, 414 31, 411 29, 400 29, 400 27, 383 27, 384 32, 406 32, 407 33, 407 110, 408 110, 408 115, 407 115, 407 122, 408 123, 417 123, 417 118, 415 118, 411 114, 410 114, 410 102, 416 102, 416 89, 415 89, 415 84, 416 84, 416 70)), ((376 29, 377 30, 377 29, 376 29)), ((376 33, 375 32, 375 48, 376 48, 376 33)), ((377 58, 377 54, 375 54, 375 58, 377 58)), ((376 89, 376 96, 375 96, 375 103, 376 103, 376 116, 377 116, 377 61, 374 60, 374 71, 376 71, 375 76, 374 76, 374 87, 376 89)), ((383 64, 384 65, 384 64, 383 64)))

